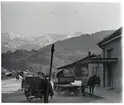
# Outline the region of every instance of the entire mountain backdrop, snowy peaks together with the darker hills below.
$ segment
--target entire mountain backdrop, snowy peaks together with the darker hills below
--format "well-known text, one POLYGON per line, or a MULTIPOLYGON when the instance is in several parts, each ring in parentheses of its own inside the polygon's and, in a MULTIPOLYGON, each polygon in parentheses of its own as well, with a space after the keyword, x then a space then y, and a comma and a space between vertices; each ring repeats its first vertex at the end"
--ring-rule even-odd
POLYGON ((4 53, 2 56, 2 66, 6 69, 21 67, 31 70, 33 68, 31 71, 36 72, 36 69, 39 69, 42 65, 44 72, 48 72, 52 43, 55 44, 53 69, 56 69, 57 67, 82 59, 88 55, 88 51, 100 54, 101 49, 96 44, 113 32, 114 30, 100 31, 93 34, 81 34, 77 32, 72 36, 66 34, 47 34, 30 38, 19 35, 11 37, 11 34, 4 33, 2 34, 2 51, 3 48, 14 51, 18 48, 27 49, 26 47, 28 47, 28 50, 35 50, 16 50, 15 52, 4 53))

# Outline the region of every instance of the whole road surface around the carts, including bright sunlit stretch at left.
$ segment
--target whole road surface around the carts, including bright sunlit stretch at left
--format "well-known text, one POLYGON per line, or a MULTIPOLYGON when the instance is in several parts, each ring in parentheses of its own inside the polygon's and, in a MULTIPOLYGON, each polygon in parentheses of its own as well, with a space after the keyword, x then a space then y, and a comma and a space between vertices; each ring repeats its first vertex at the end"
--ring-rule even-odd
MULTIPOLYGON (((75 82, 79 83, 80 82, 75 82)), ((16 81, 16 79, 9 79, 2 81, 2 102, 4 103, 27 103, 26 97, 24 92, 21 89, 21 81, 16 81)), ((50 103, 89 103, 95 100, 102 100, 102 97, 98 96, 89 96, 88 94, 86 97, 82 95, 74 96, 67 96, 64 92, 58 95, 57 92, 54 92, 53 99, 49 98, 50 103)), ((43 103, 40 99, 33 99, 32 103, 43 103)))

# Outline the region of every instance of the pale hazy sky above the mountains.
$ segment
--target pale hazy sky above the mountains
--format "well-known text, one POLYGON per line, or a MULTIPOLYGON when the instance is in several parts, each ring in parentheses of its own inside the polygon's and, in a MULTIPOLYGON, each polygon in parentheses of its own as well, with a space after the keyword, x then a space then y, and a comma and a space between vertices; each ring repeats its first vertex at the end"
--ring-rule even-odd
POLYGON ((91 34, 121 27, 119 3, 2 2, 1 32, 27 36, 91 34))

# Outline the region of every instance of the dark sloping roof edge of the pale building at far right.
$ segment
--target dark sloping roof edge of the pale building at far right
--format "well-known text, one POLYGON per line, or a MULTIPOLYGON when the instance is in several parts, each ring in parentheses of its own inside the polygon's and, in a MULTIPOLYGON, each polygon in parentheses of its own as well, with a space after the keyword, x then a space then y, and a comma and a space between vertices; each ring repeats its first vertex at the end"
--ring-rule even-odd
POLYGON ((97 43, 98 46, 102 46, 105 42, 114 39, 115 37, 120 37, 122 33, 122 27, 116 30, 112 35, 109 35, 108 37, 104 38, 100 42, 97 43))

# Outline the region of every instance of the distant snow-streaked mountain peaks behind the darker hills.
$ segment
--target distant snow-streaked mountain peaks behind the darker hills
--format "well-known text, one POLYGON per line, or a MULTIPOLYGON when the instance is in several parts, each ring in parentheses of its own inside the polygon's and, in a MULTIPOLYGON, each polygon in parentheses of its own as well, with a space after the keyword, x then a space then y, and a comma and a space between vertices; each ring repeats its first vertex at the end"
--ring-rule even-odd
POLYGON ((7 50, 15 51, 16 49, 39 49, 58 40, 68 39, 73 36, 68 34, 44 34, 41 36, 24 36, 6 32, 1 34, 2 38, 2 52, 7 50))

